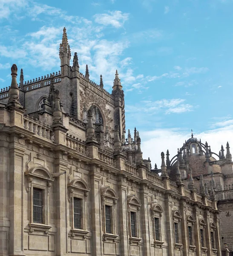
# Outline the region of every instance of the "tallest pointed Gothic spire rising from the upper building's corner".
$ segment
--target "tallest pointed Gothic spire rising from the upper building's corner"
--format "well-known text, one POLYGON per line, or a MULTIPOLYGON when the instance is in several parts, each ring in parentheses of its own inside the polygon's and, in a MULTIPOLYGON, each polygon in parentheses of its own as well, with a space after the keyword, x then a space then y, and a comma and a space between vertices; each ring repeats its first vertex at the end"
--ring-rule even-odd
POLYGON ((63 29, 62 42, 59 48, 61 76, 69 76, 71 52, 68 44, 66 28, 63 29))

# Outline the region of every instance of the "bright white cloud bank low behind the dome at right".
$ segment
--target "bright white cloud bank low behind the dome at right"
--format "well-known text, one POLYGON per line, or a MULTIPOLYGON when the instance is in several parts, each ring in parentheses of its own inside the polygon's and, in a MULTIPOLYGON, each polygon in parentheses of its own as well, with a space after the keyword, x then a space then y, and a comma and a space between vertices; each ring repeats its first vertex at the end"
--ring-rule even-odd
MULTIPOLYGON (((191 128, 192 127, 190 127, 190 129, 191 128)), ((177 148, 180 148, 185 140, 191 137, 191 132, 180 128, 155 129, 153 131, 139 132, 143 158, 147 159, 150 157, 152 167, 154 167, 156 163, 158 168, 161 166, 161 151, 164 151, 166 154, 167 149, 169 149, 171 159, 177 154, 177 148)), ((224 128, 207 130, 198 132, 197 134, 194 133, 194 137, 201 139, 202 142, 207 141, 208 145, 211 146, 211 151, 217 154, 221 145, 226 147, 227 141, 230 147, 233 148, 233 124, 229 124, 224 128)))

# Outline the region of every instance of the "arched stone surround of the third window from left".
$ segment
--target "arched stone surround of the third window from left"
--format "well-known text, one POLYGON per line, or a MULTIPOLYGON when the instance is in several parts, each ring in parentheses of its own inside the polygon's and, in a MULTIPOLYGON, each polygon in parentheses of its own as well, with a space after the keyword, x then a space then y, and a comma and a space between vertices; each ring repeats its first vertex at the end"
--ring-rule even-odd
POLYGON ((112 241, 116 241, 118 235, 116 234, 116 205, 117 205, 117 201, 118 201, 118 197, 115 193, 115 191, 113 189, 111 189, 108 186, 104 186, 100 188, 101 190, 101 209, 102 209, 102 217, 103 217, 103 230, 104 230, 104 234, 103 234, 103 241, 107 241, 107 240, 112 240, 112 241), (112 233, 106 233, 106 222, 105 222, 105 205, 108 205, 111 207, 112 209, 112 222, 111 222, 111 229, 112 229, 112 233))

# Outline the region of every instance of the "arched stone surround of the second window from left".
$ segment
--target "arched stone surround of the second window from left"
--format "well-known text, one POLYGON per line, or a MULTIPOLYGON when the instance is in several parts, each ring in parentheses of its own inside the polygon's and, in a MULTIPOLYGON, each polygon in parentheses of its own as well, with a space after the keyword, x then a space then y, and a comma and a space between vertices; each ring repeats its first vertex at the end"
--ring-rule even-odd
POLYGON ((68 201, 70 203, 71 236, 82 236, 83 239, 86 239, 86 235, 89 233, 89 231, 86 230, 86 197, 90 189, 85 180, 77 178, 68 184, 67 191, 68 201), (81 199, 81 229, 75 229, 74 198, 81 199))

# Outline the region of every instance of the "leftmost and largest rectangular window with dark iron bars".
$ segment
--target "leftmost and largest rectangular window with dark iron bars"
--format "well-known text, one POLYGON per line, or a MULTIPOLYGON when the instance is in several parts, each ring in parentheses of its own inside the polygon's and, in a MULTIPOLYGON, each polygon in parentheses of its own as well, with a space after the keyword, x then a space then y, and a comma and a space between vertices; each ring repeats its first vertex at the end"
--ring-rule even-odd
POLYGON ((42 189, 33 188, 33 222, 43 223, 42 189))

